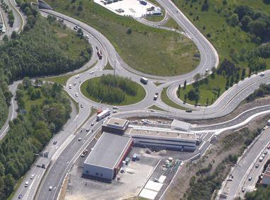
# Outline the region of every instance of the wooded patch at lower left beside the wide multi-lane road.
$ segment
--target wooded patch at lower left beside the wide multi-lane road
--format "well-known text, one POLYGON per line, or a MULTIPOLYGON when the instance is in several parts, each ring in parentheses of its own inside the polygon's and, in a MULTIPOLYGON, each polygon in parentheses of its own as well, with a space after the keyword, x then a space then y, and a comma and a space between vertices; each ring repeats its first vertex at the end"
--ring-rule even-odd
MULTIPOLYGON (((34 90, 40 91, 42 103, 32 105, 25 114, 18 114, 0 142, 0 199, 6 199, 13 192, 16 180, 29 170, 35 160, 34 153, 39 153, 52 134, 69 119, 70 102, 60 85, 45 83, 37 88, 32 86, 29 78, 25 78, 18 86, 18 102, 28 101, 29 104, 34 90)), ((23 109, 25 103, 19 106, 23 109)))

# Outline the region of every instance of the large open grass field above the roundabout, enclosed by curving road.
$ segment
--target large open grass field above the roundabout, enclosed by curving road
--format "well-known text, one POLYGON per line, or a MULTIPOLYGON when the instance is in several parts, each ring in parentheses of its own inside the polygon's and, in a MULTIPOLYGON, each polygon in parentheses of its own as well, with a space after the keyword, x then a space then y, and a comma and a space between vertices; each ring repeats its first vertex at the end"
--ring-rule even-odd
POLYGON ((192 71, 199 61, 194 60, 196 46, 180 35, 143 25, 128 17, 118 16, 93 1, 48 0, 56 11, 77 18, 107 37, 124 61, 138 71, 159 76, 175 76, 192 71), (132 33, 127 34, 131 28, 132 33))

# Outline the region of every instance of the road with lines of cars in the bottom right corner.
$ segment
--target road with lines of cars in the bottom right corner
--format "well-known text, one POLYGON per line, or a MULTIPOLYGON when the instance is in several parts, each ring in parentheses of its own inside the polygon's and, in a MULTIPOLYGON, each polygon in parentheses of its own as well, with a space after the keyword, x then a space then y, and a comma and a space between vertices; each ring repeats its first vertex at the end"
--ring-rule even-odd
MULTIPOLYGON (((262 172, 262 166, 264 165, 267 159, 264 159, 264 162, 259 163, 257 159, 265 151, 265 147, 270 141, 270 129, 266 129, 264 133, 259 137, 259 139, 251 146, 248 151, 243 155, 239 163, 235 166, 233 170, 233 181, 226 182, 225 188, 223 189, 223 194, 226 194, 227 199, 234 199, 236 196, 242 196, 242 187, 250 187, 255 184, 257 176, 262 172), (259 167, 256 169, 254 166, 259 163, 259 167), (252 175, 252 182, 248 181, 250 177, 250 172, 252 175)), ((268 154, 269 156, 269 154, 268 154)), ((247 192, 245 190, 245 192, 247 192)))

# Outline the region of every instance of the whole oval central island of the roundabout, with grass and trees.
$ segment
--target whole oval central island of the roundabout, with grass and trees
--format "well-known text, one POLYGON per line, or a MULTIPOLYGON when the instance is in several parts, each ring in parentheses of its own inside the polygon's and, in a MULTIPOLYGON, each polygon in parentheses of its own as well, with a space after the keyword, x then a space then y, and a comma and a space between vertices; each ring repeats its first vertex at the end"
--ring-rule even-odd
POLYGON ((111 74, 83 82, 81 93, 90 100, 108 105, 131 105, 146 96, 146 91, 139 83, 111 74))

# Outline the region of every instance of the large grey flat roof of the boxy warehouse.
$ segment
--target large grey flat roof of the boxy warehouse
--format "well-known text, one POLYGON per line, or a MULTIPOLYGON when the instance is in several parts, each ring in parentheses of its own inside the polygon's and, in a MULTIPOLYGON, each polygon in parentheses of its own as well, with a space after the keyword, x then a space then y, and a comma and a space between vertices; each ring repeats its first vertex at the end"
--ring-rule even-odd
POLYGON ((84 163, 113 169, 129 141, 130 137, 103 132, 84 163))

